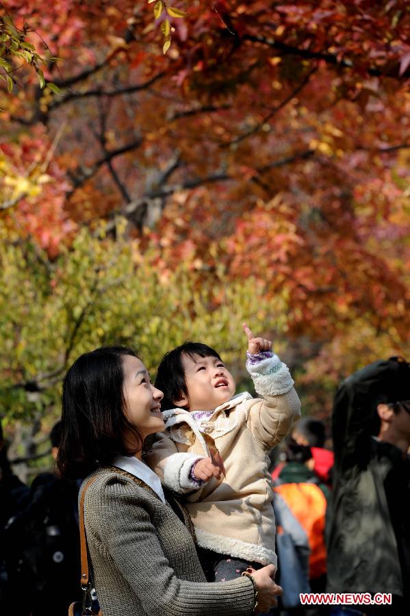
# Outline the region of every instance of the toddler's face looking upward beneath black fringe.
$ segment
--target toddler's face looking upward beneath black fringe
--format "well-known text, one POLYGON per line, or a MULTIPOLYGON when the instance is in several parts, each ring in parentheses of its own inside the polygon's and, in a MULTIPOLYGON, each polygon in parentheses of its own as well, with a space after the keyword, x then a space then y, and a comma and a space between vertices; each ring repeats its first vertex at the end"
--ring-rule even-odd
POLYGON ((188 398, 177 402, 188 411, 213 411, 235 394, 233 376, 218 357, 182 356, 188 398))

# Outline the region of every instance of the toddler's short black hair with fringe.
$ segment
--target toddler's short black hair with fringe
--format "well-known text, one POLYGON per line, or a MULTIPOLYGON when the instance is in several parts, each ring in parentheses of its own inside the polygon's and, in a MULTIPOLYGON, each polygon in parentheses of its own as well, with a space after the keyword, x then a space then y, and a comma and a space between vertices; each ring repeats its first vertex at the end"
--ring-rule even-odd
POLYGON ((182 365, 183 355, 188 355, 192 359, 194 355, 220 359, 214 348, 202 344, 202 342, 184 342, 166 353, 159 363, 157 378, 155 378, 155 387, 164 392, 164 398, 161 401, 162 411, 173 409, 175 400, 181 400, 183 396, 188 396, 188 387, 186 386, 182 365))

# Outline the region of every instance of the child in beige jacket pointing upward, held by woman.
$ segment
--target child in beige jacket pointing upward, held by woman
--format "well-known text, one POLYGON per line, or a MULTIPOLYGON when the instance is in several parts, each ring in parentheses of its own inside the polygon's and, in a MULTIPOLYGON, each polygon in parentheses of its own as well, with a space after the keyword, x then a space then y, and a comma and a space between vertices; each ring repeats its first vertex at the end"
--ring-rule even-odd
POLYGON ((264 399, 232 397, 235 381, 218 353, 185 342, 159 364, 166 431, 144 457, 164 485, 186 495, 205 573, 216 582, 255 563, 277 564, 267 454, 300 417, 294 381, 272 342, 246 324, 244 331, 246 368, 264 399))

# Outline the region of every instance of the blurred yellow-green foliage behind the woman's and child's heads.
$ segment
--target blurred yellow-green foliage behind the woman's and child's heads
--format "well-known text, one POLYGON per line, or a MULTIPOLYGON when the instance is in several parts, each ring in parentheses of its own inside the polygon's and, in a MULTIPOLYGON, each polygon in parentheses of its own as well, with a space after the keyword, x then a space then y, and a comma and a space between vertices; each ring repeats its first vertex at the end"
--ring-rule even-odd
MULTIPOLYGON (((13 242, 0 223, 0 413, 29 419, 40 409, 59 414, 61 380, 82 352, 103 344, 136 346, 153 374, 164 352, 186 338, 203 340, 235 361, 242 374, 246 341, 242 321, 260 329, 279 324, 283 300, 264 297, 264 287, 249 279, 227 285, 226 274, 198 285, 186 263, 160 279, 155 251, 135 258, 138 246, 116 224, 116 240, 103 227, 77 233, 71 248, 47 266, 47 255, 30 242, 13 242), (215 298, 223 301, 216 305, 215 298), (274 316, 272 316, 272 313, 274 316), (24 383, 41 388, 31 401, 24 383), (10 392, 21 396, 10 403, 10 392)), ((281 346, 278 341, 277 348, 281 346)))

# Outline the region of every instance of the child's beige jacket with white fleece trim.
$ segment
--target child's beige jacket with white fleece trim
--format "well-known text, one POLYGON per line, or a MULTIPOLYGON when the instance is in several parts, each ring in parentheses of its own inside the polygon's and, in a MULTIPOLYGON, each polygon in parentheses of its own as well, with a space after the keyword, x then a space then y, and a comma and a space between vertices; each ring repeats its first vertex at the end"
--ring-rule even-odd
POLYGON ((287 366, 276 355, 246 367, 264 399, 239 394, 200 423, 184 409, 164 411, 166 431, 157 434, 144 461, 164 485, 186 494, 199 546, 276 565, 267 454, 300 417, 300 400, 287 366), (220 452, 226 477, 213 477, 198 487, 190 470, 196 460, 209 456, 209 437, 220 452))

